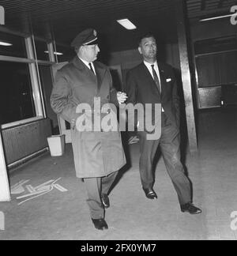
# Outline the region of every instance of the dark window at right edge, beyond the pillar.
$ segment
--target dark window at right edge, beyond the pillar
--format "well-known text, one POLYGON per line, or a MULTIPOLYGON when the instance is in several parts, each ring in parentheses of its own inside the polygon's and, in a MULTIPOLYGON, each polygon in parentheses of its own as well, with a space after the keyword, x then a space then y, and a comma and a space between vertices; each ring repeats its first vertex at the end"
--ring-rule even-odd
POLYGON ((227 36, 194 43, 198 88, 237 83, 237 37, 227 36))

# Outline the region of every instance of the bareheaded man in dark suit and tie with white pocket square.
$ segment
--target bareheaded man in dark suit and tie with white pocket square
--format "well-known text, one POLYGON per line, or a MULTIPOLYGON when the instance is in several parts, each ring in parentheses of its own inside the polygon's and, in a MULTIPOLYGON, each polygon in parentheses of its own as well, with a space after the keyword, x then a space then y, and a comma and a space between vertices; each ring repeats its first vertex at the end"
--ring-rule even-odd
MULTIPOLYGON (((153 110, 156 104, 161 104, 158 108, 160 113, 157 115, 161 122, 159 120, 156 122, 155 129, 161 129, 160 137, 149 140, 147 137, 150 134, 149 130, 138 131, 142 188, 147 198, 157 198, 152 188, 154 184, 152 164, 158 145, 160 145, 164 163, 178 194, 182 212, 201 213, 201 209, 192 204, 190 182, 180 161, 179 96, 175 75, 171 66, 156 61, 156 39, 152 34, 141 37, 138 51, 143 56, 144 62, 127 73, 128 99, 126 104, 142 104, 144 107, 145 104, 152 104, 153 110)), ((153 117, 152 120, 154 120, 153 117)))

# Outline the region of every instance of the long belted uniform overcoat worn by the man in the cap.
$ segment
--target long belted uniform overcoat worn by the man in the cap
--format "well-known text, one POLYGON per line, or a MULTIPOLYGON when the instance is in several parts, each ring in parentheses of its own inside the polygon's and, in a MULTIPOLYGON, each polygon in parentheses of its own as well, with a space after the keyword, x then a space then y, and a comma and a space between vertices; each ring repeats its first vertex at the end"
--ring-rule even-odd
POLYGON ((74 164, 78 178, 107 176, 126 164, 119 131, 79 131, 75 126, 80 116, 76 113, 78 104, 88 104, 93 110, 95 97, 100 97, 101 106, 107 103, 119 104, 107 66, 100 62, 93 63, 96 76, 80 58, 73 58, 56 73, 51 93, 51 107, 71 123, 74 164))

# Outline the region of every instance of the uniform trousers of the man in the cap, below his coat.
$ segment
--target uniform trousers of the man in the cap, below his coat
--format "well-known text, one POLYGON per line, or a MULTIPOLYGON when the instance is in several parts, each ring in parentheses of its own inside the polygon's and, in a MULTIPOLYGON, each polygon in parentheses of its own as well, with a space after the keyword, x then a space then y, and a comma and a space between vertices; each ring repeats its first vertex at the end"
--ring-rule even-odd
POLYGON ((87 203, 92 219, 104 218, 104 208, 101 203, 100 195, 108 193, 117 174, 118 171, 115 171, 105 177, 84 179, 88 194, 87 203))

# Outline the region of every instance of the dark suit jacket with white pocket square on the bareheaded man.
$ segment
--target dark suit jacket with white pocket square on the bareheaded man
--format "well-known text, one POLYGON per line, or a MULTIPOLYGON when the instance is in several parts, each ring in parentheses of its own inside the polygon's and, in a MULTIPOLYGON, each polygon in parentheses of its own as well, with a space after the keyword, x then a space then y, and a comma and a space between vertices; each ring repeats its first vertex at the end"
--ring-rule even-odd
POLYGON ((161 104, 165 115, 179 129, 179 96, 172 67, 158 62, 160 71, 161 96, 149 70, 141 62, 126 75, 126 103, 132 104, 161 104))

